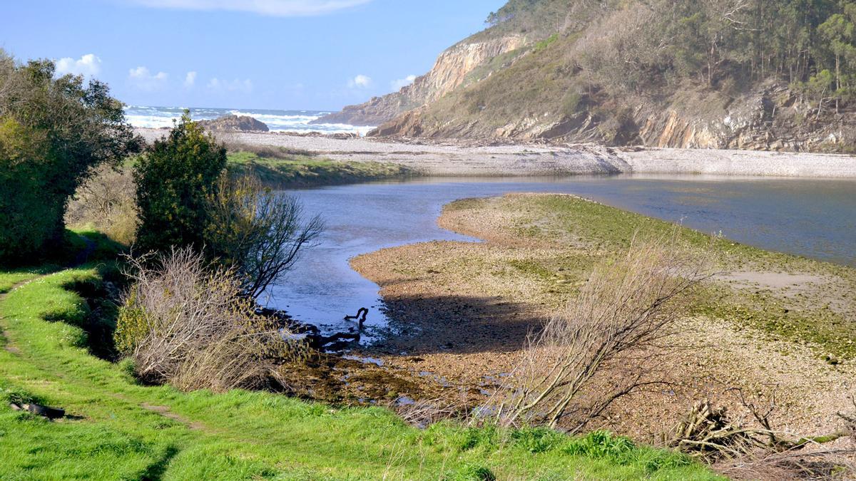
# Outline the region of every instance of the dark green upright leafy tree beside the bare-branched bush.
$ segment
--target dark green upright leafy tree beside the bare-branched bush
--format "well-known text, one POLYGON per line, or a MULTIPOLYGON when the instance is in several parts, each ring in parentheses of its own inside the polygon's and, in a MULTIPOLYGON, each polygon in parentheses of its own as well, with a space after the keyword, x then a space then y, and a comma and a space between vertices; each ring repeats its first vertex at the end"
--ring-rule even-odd
POLYGON ((226 148, 185 112, 169 136, 156 140, 134 169, 140 223, 137 243, 146 251, 205 246, 208 199, 217 195, 226 148))

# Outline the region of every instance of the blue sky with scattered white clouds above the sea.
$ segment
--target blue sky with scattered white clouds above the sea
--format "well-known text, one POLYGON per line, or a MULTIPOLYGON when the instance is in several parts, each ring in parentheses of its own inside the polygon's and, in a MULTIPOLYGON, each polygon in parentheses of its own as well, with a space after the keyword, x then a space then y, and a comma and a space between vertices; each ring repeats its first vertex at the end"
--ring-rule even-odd
POLYGON ((338 110, 393 92, 505 0, 3 0, 0 48, 129 105, 338 110))

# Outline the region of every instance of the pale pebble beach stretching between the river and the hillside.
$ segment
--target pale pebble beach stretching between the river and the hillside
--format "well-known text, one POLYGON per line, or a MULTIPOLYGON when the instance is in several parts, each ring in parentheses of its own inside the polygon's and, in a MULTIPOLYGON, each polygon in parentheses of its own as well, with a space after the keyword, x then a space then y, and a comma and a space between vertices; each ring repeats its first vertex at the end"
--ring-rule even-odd
MULTIPOLYGON (((147 141, 163 129, 136 128, 147 141)), ((856 179, 843 154, 711 149, 611 148, 603 145, 481 145, 462 140, 332 139, 282 133, 217 134, 247 145, 309 151, 330 160, 397 163, 423 175, 743 175, 856 179)))

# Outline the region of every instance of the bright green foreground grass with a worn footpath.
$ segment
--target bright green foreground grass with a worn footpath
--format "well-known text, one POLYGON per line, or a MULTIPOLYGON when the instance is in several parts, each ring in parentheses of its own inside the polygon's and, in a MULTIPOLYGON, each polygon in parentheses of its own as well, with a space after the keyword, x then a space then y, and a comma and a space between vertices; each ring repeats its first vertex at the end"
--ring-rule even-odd
POLYGON ((127 362, 86 348, 88 306, 67 287, 100 282, 97 266, 39 274, 0 275, 32 280, 0 299, 9 338, 0 343, 10 347, 0 349, 0 397, 64 407, 71 418, 50 422, 0 402, 3 479, 713 478, 686 456, 603 432, 418 430, 380 407, 142 386, 127 362))

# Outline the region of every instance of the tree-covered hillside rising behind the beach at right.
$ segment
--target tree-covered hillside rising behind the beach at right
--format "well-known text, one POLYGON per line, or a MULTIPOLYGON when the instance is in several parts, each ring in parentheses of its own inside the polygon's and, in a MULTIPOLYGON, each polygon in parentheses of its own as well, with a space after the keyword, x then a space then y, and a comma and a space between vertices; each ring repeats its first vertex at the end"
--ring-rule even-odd
POLYGON ((525 47, 447 68, 466 80, 401 102, 372 135, 852 151, 856 6, 803 3, 509 2, 465 42, 525 47))

